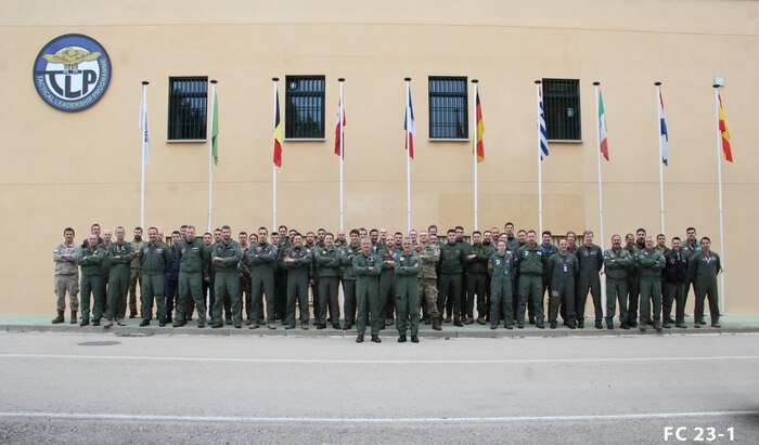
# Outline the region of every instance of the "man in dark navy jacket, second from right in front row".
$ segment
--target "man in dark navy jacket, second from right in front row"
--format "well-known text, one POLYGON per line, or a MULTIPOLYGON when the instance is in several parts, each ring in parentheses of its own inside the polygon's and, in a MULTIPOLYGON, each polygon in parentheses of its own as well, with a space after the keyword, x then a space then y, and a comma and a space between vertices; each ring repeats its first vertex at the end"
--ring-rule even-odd
POLYGON ((681 249, 680 237, 676 236, 671 241, 672 248, 665 253, 664 298, 661 302, 661 320, 664 328, 670 328, 672 324, 672 303, 677 303, 674 325, 685 327, 685 285, 687 283, 687 254, 681 249))

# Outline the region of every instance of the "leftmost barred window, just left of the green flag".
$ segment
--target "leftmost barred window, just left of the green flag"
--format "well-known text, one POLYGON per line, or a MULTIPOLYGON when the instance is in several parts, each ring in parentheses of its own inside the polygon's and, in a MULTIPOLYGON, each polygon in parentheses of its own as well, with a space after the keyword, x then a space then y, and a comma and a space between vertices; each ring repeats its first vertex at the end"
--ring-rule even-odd
POLYGON ((207 108, 207 77, 170 77, 168 140, 205 140, 207 108))

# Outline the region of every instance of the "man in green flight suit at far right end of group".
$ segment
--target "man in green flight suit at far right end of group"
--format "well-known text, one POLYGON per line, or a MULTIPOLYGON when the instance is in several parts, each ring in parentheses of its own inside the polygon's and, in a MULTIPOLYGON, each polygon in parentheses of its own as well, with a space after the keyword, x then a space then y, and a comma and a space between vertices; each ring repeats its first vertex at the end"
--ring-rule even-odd
POLYGON ((694 327, 706 325, 704 322, 704 300, 709 299, 711 327, 720 328, 719 293, 717 292, 717 275, 722 272, 720 257, 711 251, 711 239, 700 239, 700 250, 689 259, 689 274, 696 290, 696 307, 693 314, 694 327))

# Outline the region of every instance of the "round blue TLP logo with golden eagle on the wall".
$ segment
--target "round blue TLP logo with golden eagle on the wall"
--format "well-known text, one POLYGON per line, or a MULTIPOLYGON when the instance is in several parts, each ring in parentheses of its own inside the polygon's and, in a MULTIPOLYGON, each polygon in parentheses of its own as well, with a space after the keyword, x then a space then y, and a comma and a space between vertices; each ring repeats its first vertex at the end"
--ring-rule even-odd
POLYGON ((37 92, 50 106, 80 112, 103 96, 111 81, 111 60, 94 39, 67 34, 50 41, 34 66, 37 92))

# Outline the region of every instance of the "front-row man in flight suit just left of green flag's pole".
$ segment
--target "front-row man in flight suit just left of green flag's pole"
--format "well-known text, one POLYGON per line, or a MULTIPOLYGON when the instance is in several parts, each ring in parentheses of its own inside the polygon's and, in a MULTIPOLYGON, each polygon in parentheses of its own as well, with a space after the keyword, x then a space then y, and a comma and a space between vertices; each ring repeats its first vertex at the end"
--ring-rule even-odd
MULTIPOLYGON (((179 304, 173 327, 184 326, 192 313, 190 306, 197 307, 197 327, 206 326, 206 299, 203 282, 209 273, 209 250, 203 240, 195 238, 195 227, 188 226, 185 239, 179 241, 179 304), (190 300, 192 296, 192 301, 190 300)), ((206 282, 208 283, 208 282, 206 282)))

